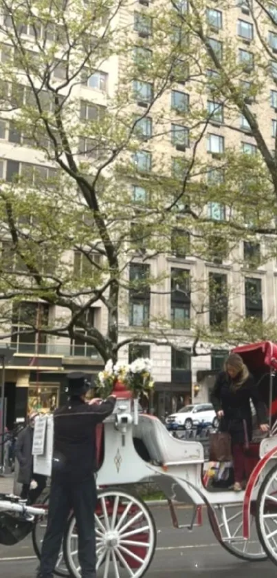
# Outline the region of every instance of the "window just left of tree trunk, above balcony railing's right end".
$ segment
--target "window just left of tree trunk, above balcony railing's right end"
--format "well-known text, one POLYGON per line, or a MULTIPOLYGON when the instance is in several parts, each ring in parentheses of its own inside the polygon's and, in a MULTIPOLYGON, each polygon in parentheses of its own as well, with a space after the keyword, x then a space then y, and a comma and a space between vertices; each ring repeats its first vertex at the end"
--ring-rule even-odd
POLYGON ((74 325, 76 336, 70 342, 70 355, 79 358, 96 357, 95 347, 86 341, 92 327, 94 327, 94 309, 91 307, 78 318, 76 325, 74 325))

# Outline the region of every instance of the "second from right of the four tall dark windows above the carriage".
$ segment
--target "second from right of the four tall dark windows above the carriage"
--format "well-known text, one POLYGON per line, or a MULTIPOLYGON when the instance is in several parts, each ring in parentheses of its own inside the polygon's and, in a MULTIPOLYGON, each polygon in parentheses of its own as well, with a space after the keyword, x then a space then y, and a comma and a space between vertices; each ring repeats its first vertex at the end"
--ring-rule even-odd
POLYGON ((210 327, 222 327, 228 319, 227 276, 209 273, 210 327))

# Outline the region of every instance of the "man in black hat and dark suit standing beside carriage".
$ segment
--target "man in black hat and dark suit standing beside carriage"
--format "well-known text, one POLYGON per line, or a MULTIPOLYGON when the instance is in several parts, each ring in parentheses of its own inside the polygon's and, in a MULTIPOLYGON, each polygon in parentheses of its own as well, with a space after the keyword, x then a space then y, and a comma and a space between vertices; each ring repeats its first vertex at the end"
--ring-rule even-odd
POLYGON ((39 578, 53 576, 71 509, 78 529, 82 578, 96 577, 96 425, 113 412, 116 398, 110 395, 100 405, 93 404, 93 400, 88 404, 85 374, 71 373, 67 377, 69 400, 54 413, 52 484, 39 578))

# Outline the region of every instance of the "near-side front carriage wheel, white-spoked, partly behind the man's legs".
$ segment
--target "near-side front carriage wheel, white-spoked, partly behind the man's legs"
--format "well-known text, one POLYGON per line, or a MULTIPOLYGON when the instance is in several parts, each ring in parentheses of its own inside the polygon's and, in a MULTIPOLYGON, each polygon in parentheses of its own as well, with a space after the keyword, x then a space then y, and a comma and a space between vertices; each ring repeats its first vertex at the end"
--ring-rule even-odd
MULTIPOLYGON (((97 575, 107 578, 140 578, 155 553, 156 528, 153 515, 142 500, 119 488, 98 493, 96 522, 97 575)), ((67 568, 80 578, 76 520, 71 515, 63 542, 67 568)))

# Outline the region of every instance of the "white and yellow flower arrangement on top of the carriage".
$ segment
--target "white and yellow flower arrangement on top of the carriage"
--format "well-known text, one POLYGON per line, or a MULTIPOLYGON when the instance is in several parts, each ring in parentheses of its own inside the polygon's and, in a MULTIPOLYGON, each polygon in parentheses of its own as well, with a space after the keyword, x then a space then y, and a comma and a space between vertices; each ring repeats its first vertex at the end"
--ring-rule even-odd
POLYGON ((134 398, 143 394, 148 397, 153 390, 154 381, 151 375, 152 363, 150 359, 138 358, 130 364, 113 364, 109 360, 104 371, 98 373, 96 388, 100 398, 107 398, 116 384, 122 389, 131 391, 134 398))

